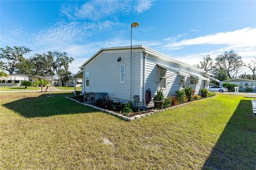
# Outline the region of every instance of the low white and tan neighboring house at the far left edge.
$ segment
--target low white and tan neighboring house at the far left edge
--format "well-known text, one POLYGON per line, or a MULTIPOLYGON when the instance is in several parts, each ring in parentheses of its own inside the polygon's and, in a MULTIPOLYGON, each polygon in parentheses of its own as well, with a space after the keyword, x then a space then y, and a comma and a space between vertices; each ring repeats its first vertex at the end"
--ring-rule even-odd
POLYGON ((5 80, 2 80, 0 82, 0 86, 20 86, 21 81, 31 81, 32 84, 39 80, 44 79, 42 77, 39 77, 37 75, 28 75, 28 74, 9 74, 9 78, 5 78, 5 80))

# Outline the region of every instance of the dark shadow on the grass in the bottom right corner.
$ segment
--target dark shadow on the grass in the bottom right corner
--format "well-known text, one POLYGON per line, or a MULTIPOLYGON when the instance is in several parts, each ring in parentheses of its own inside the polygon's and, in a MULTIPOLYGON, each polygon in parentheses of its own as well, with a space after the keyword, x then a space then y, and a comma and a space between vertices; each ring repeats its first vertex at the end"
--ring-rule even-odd
POLYGON ((256 117, 251 100, 241 100, 203 169, 256 169, 256 117))

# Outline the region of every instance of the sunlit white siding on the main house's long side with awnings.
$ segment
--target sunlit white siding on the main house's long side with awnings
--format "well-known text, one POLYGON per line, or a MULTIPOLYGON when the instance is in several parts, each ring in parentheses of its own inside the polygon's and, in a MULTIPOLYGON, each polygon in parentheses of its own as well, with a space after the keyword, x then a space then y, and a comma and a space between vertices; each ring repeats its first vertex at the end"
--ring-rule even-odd
MULTIPOLYGON (((200 72, 192 71, 186 67, 174 65, 173 63, 159 60, 158 58, 156 58, 154 56, 148 55, 147 60, 146 60, 146 84, 145 84, 146 87, 145 87, 145 89, 151 90, 152 101, 151 101, 151 103, 148 104, 147 107, 154 106, 153 96, 156 94, 156 91, 157 91, 158 85, 159 85, 159 71, 158 71, 157 63, 169 65, 172 67, 177 67, 182 70, 186 70, 186 71, 190 71, 190 72, 194 72, 194 73, 203 75, 200 72)), ((190 86, 190 78, 189 77, 185 77, 185 86, 187 86, 187 85, 190 86)), ((198 94, 199 89, 203 88, 203 86, 204 86, 203 80, 199 80, 198 84, 196 84, 196 85, 191 84, 191 87, 193 87, 193 89, 195 90, 195 94, 198 94)), ((180 89, 182 89, 180 75, 173 71, 167 70, 167 72, 166 72, 166 88, 163 89, 164 97, 172 96, 175 94, 175 91, 180 90, 180 89)))

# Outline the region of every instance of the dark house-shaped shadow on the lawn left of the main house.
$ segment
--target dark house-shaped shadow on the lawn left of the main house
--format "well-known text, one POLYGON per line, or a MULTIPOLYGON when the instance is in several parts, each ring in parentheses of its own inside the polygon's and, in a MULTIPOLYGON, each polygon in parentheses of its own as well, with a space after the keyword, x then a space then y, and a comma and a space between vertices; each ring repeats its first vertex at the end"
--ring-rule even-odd
POLYGON ((91 113, 96 110, 81 104, 76 103, 65 98, 70 94, 61 93, 53 94, 55 97, 48 98, 43 94, 38 97, 22 98, 3 106, 24 117, 47 117, 53 115, 77 114, 77 113, 91 113))

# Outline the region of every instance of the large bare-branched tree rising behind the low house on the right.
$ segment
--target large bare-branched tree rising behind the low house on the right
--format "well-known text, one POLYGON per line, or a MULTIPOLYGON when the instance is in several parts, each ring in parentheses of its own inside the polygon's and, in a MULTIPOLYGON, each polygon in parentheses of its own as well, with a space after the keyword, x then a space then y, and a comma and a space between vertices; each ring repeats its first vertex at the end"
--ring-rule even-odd
POLYGON ((215 69, 225 70, 230 79, 237 77, 237 73, 239 73, 244 66, 242 57, 238 56, 232 49, 229 52, 224 52, 223 54, 218 55, 215 60, 215 69))

